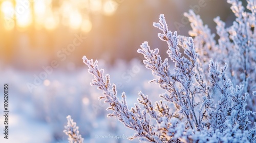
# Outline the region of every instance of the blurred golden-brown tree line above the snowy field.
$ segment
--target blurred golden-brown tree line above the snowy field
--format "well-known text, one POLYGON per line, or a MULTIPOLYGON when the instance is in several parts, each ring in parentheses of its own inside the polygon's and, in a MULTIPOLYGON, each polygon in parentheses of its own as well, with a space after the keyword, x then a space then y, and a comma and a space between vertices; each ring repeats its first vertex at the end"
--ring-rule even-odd
MULTIPOLYGON (((26 70, 49 65, 52 60, 59 61, 57 53, 73 43, 75 34, 81 34, 86 39, 67 55, 67 61, 59 61, 61 66, 70 62, 76 66, 83 65, 83 55, 103 59, 107 63, 114 63, 116 59, 129 61, 139 57, 137 49, 145 40, 150 42, 152 48, 166 48, 165 43, 156 36, 159 31, 153 27, 153 22, 158 21, 159 14, 165 15, 170 30, 186 36, 191 28, 183 13, 189 9, 194 9, 212 32, 216 31, 214 17, 220 16, 227 22, 227 26, 231 25, 229 21, 234 19, 230 5, 220 0, 48 0, 42 1, 45 3, 45 11, 42 14, 45 15, 37 13, 41 7, 35 7, 40 0, 27 0, 25 5, 20 4, 25 0, 11 0, 9 2, 13 7, 23 6, 25 10, 29 9, 31 22, 20 27, 17 23, 19 17, 15 18, 18 14, 9 17, 8 22, 5 15, 7 7, 3 6, 6 1, 0 1, 1 64, 26 70), (66 13, 63 10, 64 5, 66 13), (46 23, 50 16, 53 16, 55 21, 46 23), (13 21, 10 22, 10 19, 13 21), (38 20, 45 25, 38 24, 38 20), (86 30, 82 27, 84 20, 87 20, 86 30), (6 28, 8 24, 13 25, 11 29, 6 28), (73 28, 72 25, 76 27, 73 28)), ((167 54, 161 53, 161 56, 166 57, 167 54)))

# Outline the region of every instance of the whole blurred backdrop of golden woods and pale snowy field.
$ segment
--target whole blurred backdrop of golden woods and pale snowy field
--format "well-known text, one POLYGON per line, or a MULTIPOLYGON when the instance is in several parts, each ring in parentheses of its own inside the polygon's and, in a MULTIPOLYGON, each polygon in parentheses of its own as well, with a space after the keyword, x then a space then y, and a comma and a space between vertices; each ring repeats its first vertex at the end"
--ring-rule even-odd
MULTIPOLYGON (((0 142, 68 142, 63 133, 67 115, 77 123, 84 142, 138 142, 100 138, 131 136, 135 132, 115 118, 106 117, 110 113, 105 110, 108 105, 98 101, 102 92, 90 86, 93 77, 81 58, 86 55, 99 59, 100 68, 110 74, 119 95, 126 92, 129 107, 137 102, 140 90, 158 100, 163 91, 154 83, 148 84, 153 76, 136 51, 142 42, 149 41, 153 48, 164 49, 160 51, 166 57, 166 45, 157 38, 159 31, 152 23, 163 13, 170 30, 188 35, 190 26, 182 13, 198 8, 201 1, 31 2, 0 1, 0 95, 4 83, 8 83, 10 111, 9 139, 1 133, 0 142), (182 27, 175 27, 175 22, 182 27), (74 44, 75 35, 86 38, 67 54, 63 49, 74 44), (42 67, 49 67, 53 61, 57 61, 58 67, 35 85, 35 77, 46 72, 42 67), (36 87, 30 90, 28 83, 36 87)), ((221 16, 227 26, 231 24, 234 17, 230 5, 225 1, 204 2, 204 7, 195 10, 213 32, 216 25, 212 19, 216 16, 221 16)), ((0 98, 1 113, 3 102, 0 98)), ((1 130, 3 121, 1 115, 1 130)))

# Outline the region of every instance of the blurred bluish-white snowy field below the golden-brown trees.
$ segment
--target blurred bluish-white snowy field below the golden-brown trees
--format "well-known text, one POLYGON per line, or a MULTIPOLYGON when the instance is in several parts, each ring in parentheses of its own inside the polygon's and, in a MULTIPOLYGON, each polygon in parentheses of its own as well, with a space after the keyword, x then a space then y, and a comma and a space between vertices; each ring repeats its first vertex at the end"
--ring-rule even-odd
MULTIPOLYGON (((159 94, 164 92, 157 84, 148 83, 154 77, 140 60, 130 63, 119 60, 112 67, 106 65, 99 61, 99 67, 104 68, 105 74, 111 76, 111 83, 117 85, 119 99, 121 92, 126 92, 130 108, 137 103, 140 90, 153 100, 159 100, 159 94)), ((53 69, 47 79, 30 92, 27 83, 33 83, 33 75, 42 71, 44 69, 19 71, 11 67, 0 71, 1 84, 9 84, 10 111, 9 139, 6 141, 1 134, 0 142, 68 142, 68 136, 63 133, 67 115, 77 123, 84 142, 138 142, 138 139, 130 141, 124 137, 132 136, 133 130, 115 118, 106 117, 111 111, 106 111, 108 105, 98 100, 102 92, 90 85, 93 77, 86 65, 68 71, 53 69)), ((2 107, 3 102, 1 98, 2 107)), ((0 109, 3 113, 3 108, 0 109)), ((1 129, 3 121, 2 115, 1 129)))

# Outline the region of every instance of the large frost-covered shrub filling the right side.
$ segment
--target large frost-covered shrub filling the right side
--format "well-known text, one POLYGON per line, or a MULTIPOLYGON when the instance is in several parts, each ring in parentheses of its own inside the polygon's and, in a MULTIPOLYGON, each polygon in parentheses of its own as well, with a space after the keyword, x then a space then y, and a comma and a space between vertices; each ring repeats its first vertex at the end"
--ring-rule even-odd
POLYGON ((248 109, 256 105, 256 1, 248 0, 245 12, 240 1, 228 1, 237 16, 229 28, 220 18, 217 22, 218 43, 214 34, 193 11, 185 13, 191 22, 194 36, 184 37, 168 30, 164 15, 154 27, 162 33, 158 37, 167 42, 167 54, 175 63, 170 70, 168 59, 162 61, 159 50, 151 50, 148 42, 138 53, 145 58, 146 68, 152 70, 156 82, 165 93, 164 101, 155 102, 139 92, 138 104, 129 108, 123 92, 117 97, 110 75, 104 75, 97 60, 83 57, 89 73, 94 76, 91 85, 103 91, 103 99, 113 110, 109 117, 118 118, 127 128, 137 131, 133 138, 148 142, 255 142, 255 114, 248 109), (182 56, 180 47, 186 57, 182 56), (217 61, 221 64, 219 65, 217 61), (248 106, 247 103, 248 103, 248 106), (141 107, 143 107, 141 109, 141 107), (251 121, 254 122, 254 125, 251 121))

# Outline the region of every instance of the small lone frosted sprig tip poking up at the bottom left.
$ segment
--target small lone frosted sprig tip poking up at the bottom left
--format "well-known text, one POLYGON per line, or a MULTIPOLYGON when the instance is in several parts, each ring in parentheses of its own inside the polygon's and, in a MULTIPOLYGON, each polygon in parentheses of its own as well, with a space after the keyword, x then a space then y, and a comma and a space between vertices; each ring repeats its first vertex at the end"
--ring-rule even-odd
POLYGON ((67 116, 68 125, 65 126, 65 130, 63 131, 66 135, 69 136, 70 143, 82 143, 83 138, 79 134, 78 127, 76 123, 73 121, 70 115, 67 116))

